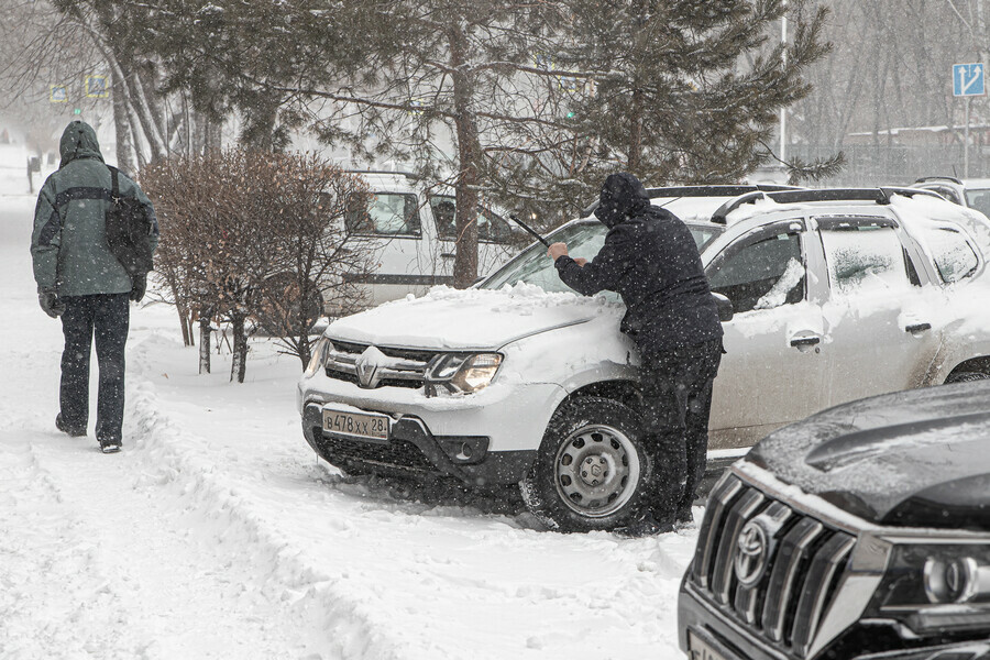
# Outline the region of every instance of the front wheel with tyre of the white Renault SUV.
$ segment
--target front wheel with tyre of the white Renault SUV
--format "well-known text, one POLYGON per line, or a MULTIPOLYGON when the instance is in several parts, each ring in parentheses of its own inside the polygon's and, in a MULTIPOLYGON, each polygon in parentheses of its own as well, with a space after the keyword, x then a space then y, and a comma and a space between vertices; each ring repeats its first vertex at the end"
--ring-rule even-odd
POLYGON ((608 398, 580 397, 553 414, 519 487, 549 529, 613 529, 638 513, 649 470, 637 413, 608 398))

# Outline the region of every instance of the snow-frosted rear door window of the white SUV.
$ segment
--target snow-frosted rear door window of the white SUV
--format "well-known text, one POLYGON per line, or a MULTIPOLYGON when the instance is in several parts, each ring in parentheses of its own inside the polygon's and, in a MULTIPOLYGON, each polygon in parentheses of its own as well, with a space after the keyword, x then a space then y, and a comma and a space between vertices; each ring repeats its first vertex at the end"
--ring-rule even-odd
POLYGON ((904 249, 892 227, 835 227, 822 231, 822 243, 835 294, 910 286, 904 249))

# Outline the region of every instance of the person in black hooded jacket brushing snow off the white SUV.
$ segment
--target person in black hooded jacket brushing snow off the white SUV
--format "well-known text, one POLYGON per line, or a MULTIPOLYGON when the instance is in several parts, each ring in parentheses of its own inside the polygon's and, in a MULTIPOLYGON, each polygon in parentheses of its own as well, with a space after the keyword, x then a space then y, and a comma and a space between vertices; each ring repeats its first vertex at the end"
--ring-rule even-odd
POLYGON ((651 471, 641 513, 625 531, 670 531, 692 520, 704 474, 712 384, 724 352, 718 309, 688 227, 652 206, 635 176, 605 179, 595 217, 608 234, 591 262, 568 256, 564 243, 553 243, 547 254, 572 289, 585 296, 607 289, 626 304, 620 329, 640 353, 651 471))

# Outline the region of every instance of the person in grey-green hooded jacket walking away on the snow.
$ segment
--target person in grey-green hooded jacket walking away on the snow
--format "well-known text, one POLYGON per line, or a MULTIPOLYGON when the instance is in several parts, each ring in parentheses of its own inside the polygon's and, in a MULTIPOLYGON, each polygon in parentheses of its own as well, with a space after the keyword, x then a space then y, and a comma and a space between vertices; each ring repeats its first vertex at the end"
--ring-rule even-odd
MULTIPOLYGON (((62 318, 65 336, 55 426, 69 436, 87 433, 95 338, 100 373, 96 437, 100 449, 112 453, 121 447, 128 300, 141 300, 146 278, 132 278, 108 245, 112 178, 96 131, 86 122, 73 121, 62 134, 59 151, 58 170, 38 193, 31 237, 38 302, 50 317, 62 318)), ((144 208, 154 251, 158 242, 154 207, 133 180, 119 174, 118 182, 120 196, 134 197, 144 208)))

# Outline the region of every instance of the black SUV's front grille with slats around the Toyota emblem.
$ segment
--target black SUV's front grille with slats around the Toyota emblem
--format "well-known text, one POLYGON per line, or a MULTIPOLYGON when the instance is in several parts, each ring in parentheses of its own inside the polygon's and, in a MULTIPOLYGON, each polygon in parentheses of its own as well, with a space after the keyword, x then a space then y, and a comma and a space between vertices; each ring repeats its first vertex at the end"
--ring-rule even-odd
POLYGON ((855 544, 855 536, 732 475, 708 499, 689 579, 726 617, 804 658, 855 544), (739 581, 735 560, 740 544, 751 539, 751 527, 745 535, 744 529, 754 520, 751 527, 766 530, 767 557, 763 571, 752 572, 761 576, 747 586, 739 581))

